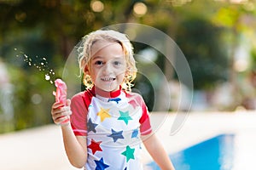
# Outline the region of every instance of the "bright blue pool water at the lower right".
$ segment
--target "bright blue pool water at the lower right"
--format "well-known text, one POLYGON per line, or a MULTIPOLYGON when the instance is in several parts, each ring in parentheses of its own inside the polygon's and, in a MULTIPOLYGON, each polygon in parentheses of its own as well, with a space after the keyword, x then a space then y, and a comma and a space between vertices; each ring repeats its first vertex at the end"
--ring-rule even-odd
MULTIPOLYGON (((170 156, 177 170, 231 170, 234 164, 234 134, 221 134, 170 156)), ((154 162, 148 164, 159 170, 154 162)))

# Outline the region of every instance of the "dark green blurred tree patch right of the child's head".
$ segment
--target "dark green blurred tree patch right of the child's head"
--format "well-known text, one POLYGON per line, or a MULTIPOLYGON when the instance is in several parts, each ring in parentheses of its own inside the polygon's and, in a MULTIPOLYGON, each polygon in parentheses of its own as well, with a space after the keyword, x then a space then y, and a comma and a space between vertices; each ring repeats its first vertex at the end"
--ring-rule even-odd
POLYGON ((229 60, 222 40, 223 30, 199 16, 183 20, 177 31, 177 44, 183 49, 195 89, 213 88, 229 78, 229 60), (189 30, 189 31, 187 31, 189 30), (209 83, 212 82, 212 83, 209 83))

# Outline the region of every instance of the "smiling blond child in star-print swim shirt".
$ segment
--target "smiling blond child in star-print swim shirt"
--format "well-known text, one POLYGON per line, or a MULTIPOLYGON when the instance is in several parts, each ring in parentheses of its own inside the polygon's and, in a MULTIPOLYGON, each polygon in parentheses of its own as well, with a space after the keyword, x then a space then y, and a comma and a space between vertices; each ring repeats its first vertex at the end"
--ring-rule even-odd
POLYGON ((84 92, 67 104, 55 102, 52 118, 61 124, 67 157, 84 169, 143 169, 141 144, 161 169, 174 169, 152 132, 148 109, 131 93, 137 68, 131 42, 118 31, 94 31, 79 54, 84 92), (70 117, 70 122, 61 123, 70 117))

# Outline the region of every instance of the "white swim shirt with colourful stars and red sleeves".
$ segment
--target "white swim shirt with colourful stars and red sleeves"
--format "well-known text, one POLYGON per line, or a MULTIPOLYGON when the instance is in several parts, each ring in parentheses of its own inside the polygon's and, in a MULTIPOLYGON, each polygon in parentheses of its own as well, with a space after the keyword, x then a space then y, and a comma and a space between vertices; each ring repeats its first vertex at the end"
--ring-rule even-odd
POLYGON ((97 90, 88 89, 74 96, 72 102, 73 133, 87 140, 84 168, 141 169, 140 137, 152 130, 143 97, 125 93, 121 87, 114 94, 98 94, 97 90), (76 110, 79 106, 83 111, 76 110))

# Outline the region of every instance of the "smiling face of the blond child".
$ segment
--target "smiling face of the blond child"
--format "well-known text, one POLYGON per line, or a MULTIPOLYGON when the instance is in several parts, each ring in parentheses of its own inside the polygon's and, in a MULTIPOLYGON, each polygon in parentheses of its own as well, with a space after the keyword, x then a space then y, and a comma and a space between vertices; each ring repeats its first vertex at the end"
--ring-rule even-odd
POLYGON ((118 42, 96 42, 91 54, 89 73, 96 88, 107 92, 118 90, 126 70, 122 46, 118 42))

